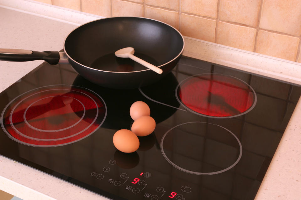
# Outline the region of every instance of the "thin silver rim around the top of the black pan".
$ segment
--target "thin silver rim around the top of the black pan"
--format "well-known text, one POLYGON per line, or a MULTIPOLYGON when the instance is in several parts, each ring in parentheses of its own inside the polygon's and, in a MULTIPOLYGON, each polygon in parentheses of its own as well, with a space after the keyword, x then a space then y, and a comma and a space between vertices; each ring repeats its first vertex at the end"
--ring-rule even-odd
MULTIPOLYGON (((156 20, 156 19, 147 18, 147 17, 120 16, 120 18, 127 18, 127 17, 130 17, 130 18, 149 19, 149 20, 152 20, 152 21, 156 21, 156 22, 160 22, 160 23, 166 24, 166 25, 169 26, 169 27, 172 27, 171 25, 169 25, 169 24, 167 24, 167 23, 165 23, 165 22, 162 22, 162 21, 159 21, 159 20, 156 20)), ((145 70, 131 71, 131 72, 105 71, 105 70, 100 70, 100 69, 91 68, 91 67, 88 67, 88 66, 86 66, 86 65, 83 65, 83 64, 81 64, 81 63, 78 63, 77 61, 75 61, 73 58, 71 58, 71 57, 69 56, 69 54, 67 53, 67 51, 66 51, 66 49, 65 49, 65 43, 66 43, 67 37, 69 37, 69 35, 70 35, 73 31, 75 31, 76 29, 78 29, 78 28, 80 28, 80 27, 82 27, 82 26, 84 26, 84 25, 86 25, 86 24, 88 24, 88 23, 95 22, 95 21, 99 21, 99 20, 102 20, 102 19, 108 19, 108 18, 119 18, 119 17, 105 17, 105 18, 96 19, 96 20, 93 20, 93 21, 84 23, 84 24, 82 24, 82 25, 80 25, 80 26, 74 28, 71 32, 69 32, 69 34, 65 37, 65 40, 64 40, 64 43, 63 43, 63 50, 64 50, 64 53, 66 54, 66 56, 68 57, 68 59, 72 60, 72 62, 77 63, 78 65, 81 65, 82 67, 89 68, 89 69, 92 69, 92 70, 96 70, 96 71, 99 71, 99 72, 108 72, 108 73, 135 73, 135 72, 144 72, 144 71, 149 71, 149 70, 151 70, 151 69, 145 69, 145 70)), ((181 56, 182 53, 183 53, 183 51, 184 51, 185 40, 184 40, 183 35, 182 35, 181 32, 179 32, 175 27, 172 27, 172 28, 173 28, 174 30, 176 30, 176 31, 179 33, 179 35, 182 37, 182 41, 183 41, 183 47, 182 47, 182 50, 181 50, 181 52, 180 52, 175 58, 173 58, 172 60, 170 60, 170 61, 168 61, 167 63, 164 63, 164 64, 162 64, 162 65, 160 65, 160 66, 157 66, 158 68, 160 68, 160 67, 162 67, 162 66, 164 66, 164 65, 166 65, 166 64, 168 64, 168 63, 171 63, 172 61, 174 61, 175 59, 177 59, 179 56, 181 56)))

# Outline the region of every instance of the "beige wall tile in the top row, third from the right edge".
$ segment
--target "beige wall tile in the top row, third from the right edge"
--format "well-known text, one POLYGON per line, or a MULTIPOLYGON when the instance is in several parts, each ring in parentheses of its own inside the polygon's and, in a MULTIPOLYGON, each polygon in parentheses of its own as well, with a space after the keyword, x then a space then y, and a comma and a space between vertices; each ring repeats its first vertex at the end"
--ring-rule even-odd
POLYGON ((182 12, 216 18, 217 1, 218 0, 181 0, 181 10, 182 12))

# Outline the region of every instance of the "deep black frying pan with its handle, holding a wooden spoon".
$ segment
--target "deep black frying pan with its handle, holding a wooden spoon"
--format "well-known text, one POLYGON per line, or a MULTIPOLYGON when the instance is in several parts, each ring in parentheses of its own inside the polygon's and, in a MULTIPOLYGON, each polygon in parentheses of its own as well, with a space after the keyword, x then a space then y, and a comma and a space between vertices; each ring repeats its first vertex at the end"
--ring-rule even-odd
POLYGON ((70 63, 87 80, 108 88, 138 88, 163 78, 177 64, 184 39, 166 23, 142 17, 112 17, 88 22, 73 30, 64 42, 64 53, 0 49, 0 60, 45 60, 70 63), (157 74, 114 52, 134 47, 135 56, 163 70, 157 74), (64 58, 65 57, 65 58, 64 58))

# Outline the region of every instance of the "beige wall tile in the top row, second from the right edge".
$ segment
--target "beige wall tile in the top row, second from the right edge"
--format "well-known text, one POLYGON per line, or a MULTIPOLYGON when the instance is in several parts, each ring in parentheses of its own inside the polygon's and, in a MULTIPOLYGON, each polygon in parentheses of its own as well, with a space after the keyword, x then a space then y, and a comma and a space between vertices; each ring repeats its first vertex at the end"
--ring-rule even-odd
POLYGON ((219 19, 257 26, 260 0, 220 0, 219 19))

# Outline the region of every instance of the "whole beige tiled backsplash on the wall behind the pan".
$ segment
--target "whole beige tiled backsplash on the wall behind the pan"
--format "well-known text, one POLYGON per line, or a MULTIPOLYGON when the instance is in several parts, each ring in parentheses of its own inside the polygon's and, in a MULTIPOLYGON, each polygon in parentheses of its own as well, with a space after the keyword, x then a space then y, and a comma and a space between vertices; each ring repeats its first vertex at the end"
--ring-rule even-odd
POLYGON ((163 21, 184 36, 301 63, 301 0, 36 0, 163 21))

